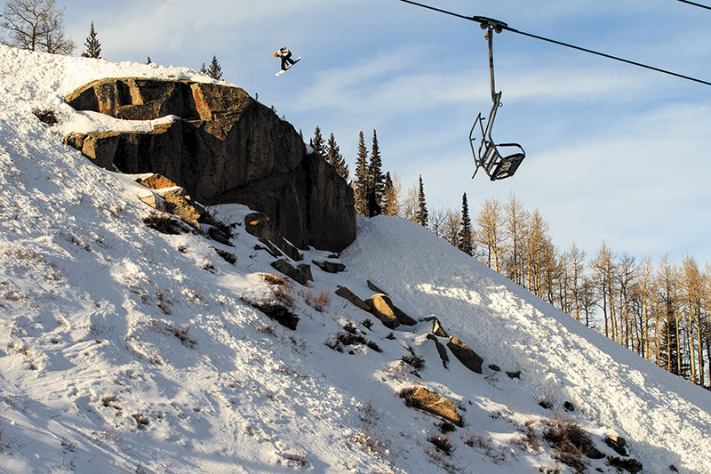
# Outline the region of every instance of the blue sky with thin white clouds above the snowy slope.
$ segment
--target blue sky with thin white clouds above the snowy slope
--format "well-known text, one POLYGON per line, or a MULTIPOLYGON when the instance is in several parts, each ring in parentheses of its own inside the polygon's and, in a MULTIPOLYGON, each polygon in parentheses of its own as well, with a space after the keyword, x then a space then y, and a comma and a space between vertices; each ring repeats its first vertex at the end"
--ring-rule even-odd
MULTIPOLYGON (((711 81, 711 12, 676 0, 429 0, 511 28, 711 81)), ((701 2, 702 3, 702 2, 701 2)), ((709 2, 711 4, 711 2, 709 2)), ((471 180, 468 133, 491 108, 478 24, 397 0, 126 0, 67 4, 83 51, 94 21, 102 57, 200 68, 274 105, 307 139, 334 133, 351 169, 377 130, 403 189, 421 174, 430 209, 475 213, 513 191, 549 222, 555 245, 711 261, 711 86, 504 32, 494 38, 493 137, 523 145, 514 178, 471 180), (274 76, 288 46, 298 67, 274 76)))

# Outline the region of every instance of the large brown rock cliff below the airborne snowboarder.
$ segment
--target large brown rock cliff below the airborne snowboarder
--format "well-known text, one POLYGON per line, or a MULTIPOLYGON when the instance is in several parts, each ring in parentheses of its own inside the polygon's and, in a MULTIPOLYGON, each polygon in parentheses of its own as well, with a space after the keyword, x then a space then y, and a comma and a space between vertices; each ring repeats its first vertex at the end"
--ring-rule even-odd
POLYGON ((136 77, 101 79, 67 102, 131 120, 176 116, 149 133, 73 133, 66 142, 104 168, 160 173, 205 205, 265 213, 302 249, 340 252, 356 238, 353 190, 293 126, 238 87, 136 77), (178 118, 180 117, 180 118, 178 118))

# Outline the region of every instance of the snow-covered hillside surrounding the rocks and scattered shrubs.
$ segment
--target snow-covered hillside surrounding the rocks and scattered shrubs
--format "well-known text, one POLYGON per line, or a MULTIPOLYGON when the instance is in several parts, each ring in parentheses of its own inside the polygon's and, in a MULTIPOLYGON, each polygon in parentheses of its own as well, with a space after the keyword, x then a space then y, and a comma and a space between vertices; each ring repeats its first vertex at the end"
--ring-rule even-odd
MULTIPOLYGON (((409 221, 359 217, 346 271, 312 265, 315 281, 287 292, 297 329, 278 325, 249 304, 284 289, 265 281, 275 259, 255 237, 238 225, 231 247, 149 229, 135 176, 62 144, 71 131, 152 126, 63 103, 107 76, 210 81, 0 46, 0 472, 563 472, 544 434, 566 423, 610 458, 603 438, 626 438, 646 472, 711 471, 711 394, 409 221), (364 300, 367 280, 421 322, 390 335, 333 293, 364 300), (443 368, 422 321, 433 315, 484 358, 483 374, 451 354, 443 368), (370 344, 332 349, 346 326, 370 344), (401 361, 413 354, 423 368, 401 361), (465 426, 443 433, 405 406, 398 394, 414 385, 453 400, 465 426)), ((215 212, 241 224, 249 210, 215 212)))

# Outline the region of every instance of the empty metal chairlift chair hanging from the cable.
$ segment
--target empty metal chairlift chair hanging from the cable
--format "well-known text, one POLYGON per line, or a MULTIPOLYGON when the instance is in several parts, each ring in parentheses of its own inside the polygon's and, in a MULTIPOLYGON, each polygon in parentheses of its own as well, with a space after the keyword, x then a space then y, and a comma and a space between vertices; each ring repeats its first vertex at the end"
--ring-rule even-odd
MULTIPOLYGON (((489 20, 489 19, 486 19, 489 20)), ((491 112, 489 118, 482 116, 479 113, 476 116, 474 125, 469 132, 469 144, 471 145, 472 154, 474 155, 474 163, 476 169, 472 175, 472 179, 476 176, 479 168, 489 175, 491 181, 503 180, 514 175, 518 166, 521 165, 523 158, 526 157, 526 152, 518 143, 495 143, 491 138, 491 129, 496 118, 496 111, 501 104, 501 92, 496 92, 494 86, 494 54, 493 54, 493 33, 501 32, 501 25, 506 27, 505 23, 498 20, 490 20, 488 23, 482 23, 482 28, 487 29, 485 38, 489 41, 489 72, 491 76, 491 112), (484 125, 486 120, 486 125, 484 125), (478 126, 477 126, 478 125, 478 126), (479 141, 478 146, 475 141, 479 141)))

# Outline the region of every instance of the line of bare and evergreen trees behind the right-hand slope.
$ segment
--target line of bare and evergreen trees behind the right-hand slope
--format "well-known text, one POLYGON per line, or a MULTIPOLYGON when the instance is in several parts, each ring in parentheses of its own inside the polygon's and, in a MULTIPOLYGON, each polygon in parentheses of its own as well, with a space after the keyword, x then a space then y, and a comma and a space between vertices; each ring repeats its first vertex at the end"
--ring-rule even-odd
MULTIPOLYGON (((335 138, 319 148, 320 134, 316 127, 312 147, 348 181, 335 138)), ((382 178, 375 131, 368 159, 361 132, 356 178, 349 181, 357 213, 367 215, 365 192, 375 189, 384 214, 419 223, 640 357, 711 387, 711 264, 702 268, 692 256, 681 262, 638 260, 614 252, 604 241, 589 257, 575 244, 562 251, 539 210, 526 209, 513 192, 503 202, 485 199, 472 215, 467 193, 459 209, 427 210, 421 175, 403 193, 396 173, 382 178)))

